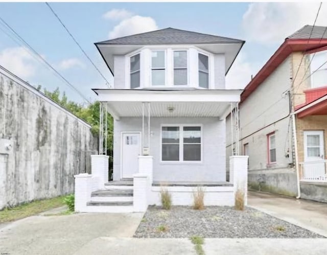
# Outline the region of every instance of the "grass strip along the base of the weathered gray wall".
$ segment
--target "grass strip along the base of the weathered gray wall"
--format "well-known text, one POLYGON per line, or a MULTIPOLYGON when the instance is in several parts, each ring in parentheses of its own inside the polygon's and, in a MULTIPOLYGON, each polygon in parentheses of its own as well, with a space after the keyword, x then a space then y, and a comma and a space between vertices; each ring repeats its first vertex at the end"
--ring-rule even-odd
POLYGON ((59 196, 50 199, 35 200, 12 208, 5 208, 0 211, 0 223, 19 220, 48 211, 52 208, 63 206, 64 197, 65 196, 59 196))

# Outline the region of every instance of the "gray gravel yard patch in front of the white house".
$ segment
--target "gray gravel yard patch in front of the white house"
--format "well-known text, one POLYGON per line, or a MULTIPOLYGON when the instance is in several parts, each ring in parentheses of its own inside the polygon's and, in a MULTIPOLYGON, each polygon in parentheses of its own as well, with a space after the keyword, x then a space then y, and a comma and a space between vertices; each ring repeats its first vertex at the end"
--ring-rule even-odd
POLYGON ((162 210, 149 206, 134 237, 137 238, 323 238, 268 214, 246 207, 237 211, 229 206, 208 206, 193 210, 173 206, 162 210))

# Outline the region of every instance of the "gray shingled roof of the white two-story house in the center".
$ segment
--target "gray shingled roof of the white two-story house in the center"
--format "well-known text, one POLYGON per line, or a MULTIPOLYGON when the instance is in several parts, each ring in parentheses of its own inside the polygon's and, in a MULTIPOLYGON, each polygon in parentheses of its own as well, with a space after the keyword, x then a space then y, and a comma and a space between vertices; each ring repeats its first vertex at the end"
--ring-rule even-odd
POLYGON ((153 44, 207 44, 207 43, 243 43, 243 40, 207 35, 197 32, 166 28, 142 34, 115 38, 96 44, 153 45, 153 44))

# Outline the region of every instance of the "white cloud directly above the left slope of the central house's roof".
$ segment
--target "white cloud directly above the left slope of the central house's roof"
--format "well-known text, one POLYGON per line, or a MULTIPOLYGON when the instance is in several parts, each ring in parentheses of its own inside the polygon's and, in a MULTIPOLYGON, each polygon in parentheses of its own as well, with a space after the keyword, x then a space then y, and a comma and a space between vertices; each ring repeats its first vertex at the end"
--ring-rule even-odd
POLYGON ((137 15, 122 20, 109 32, 109 38, 112 39, 126 35, 145 33, 157 29, 157 24, 153 18, 137 15))

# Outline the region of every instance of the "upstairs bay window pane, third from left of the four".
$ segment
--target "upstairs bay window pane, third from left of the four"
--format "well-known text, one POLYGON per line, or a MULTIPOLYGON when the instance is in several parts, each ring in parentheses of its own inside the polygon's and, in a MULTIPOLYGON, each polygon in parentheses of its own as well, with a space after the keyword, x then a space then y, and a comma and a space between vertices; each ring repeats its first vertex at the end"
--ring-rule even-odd
POLYGON ((174 51, 174 85, 188 84, 188 52, 174 51))

